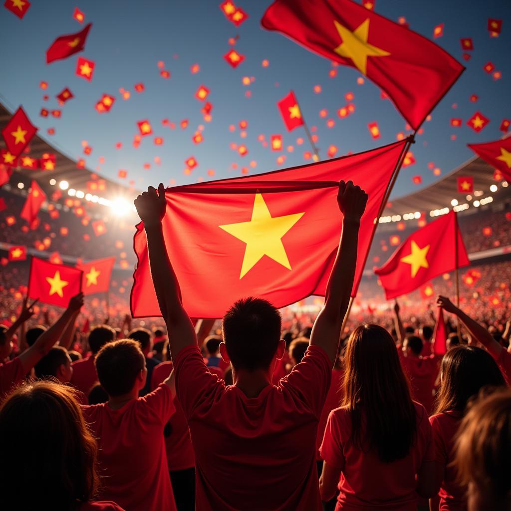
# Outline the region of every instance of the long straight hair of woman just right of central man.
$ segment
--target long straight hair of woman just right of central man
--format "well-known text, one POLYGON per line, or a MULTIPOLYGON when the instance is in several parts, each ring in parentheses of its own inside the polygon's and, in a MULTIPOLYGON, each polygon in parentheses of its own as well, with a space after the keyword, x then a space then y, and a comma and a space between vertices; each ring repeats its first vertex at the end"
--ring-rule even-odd
POLYGON ((414 442, 417 414, 396 345, 384 328, 367 324, 353 331, 344 353, 343 387, 354 445, 375 449, 387 463, 404 458, 414 442))

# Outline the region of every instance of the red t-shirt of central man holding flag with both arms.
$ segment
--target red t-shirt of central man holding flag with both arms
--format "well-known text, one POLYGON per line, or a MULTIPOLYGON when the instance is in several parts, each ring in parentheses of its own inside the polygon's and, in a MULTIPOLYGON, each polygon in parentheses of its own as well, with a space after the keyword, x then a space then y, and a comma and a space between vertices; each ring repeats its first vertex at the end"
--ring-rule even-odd
POLYGON ((174 362, 195 450, 197 509, 321 509, 315 439, 332 372, 327 354, 309 346, 257 398, 212 375, 196 345, 174 362))

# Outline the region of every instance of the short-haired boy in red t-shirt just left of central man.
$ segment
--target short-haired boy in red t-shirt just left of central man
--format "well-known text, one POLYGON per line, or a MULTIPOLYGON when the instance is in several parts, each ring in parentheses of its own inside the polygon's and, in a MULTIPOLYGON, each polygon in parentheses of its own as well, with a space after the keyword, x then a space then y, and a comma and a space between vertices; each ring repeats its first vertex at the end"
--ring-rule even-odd
MULTIPOLYGON (((163 430, 174 412, 169 384, 138 398, 147 369, 138 343, 106 344, 96 357, 107 403, 83 406, 100 446, 100 496, 129 511, 174 511, 163 430)), ((167 380, 166 380, 167 381, 167 380)))

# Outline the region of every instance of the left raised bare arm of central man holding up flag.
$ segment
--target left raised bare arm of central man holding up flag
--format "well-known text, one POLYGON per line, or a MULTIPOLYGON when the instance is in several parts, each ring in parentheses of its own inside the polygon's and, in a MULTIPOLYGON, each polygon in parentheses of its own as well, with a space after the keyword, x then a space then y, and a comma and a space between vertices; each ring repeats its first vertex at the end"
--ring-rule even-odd
POLYGON ((164 185, 160 183, 158 194, 153 187, 149 187, 147 192, 136 198, 135 207, 144 222, 154 290, 167 325, 172 359, 175 360, 184 347, 197 344, 197 337, 192 321, 183 309, 179 283, 163 237, 161 220, 167 208, 164 185))

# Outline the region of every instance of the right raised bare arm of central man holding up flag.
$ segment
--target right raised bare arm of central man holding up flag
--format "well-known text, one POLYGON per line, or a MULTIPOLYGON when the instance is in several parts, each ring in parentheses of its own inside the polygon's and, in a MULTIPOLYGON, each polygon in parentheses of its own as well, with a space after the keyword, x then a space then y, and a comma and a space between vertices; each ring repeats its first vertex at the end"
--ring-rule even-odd
POLYGON ((311 333, 311 344, 322 347, 334 365, 342 320, 350 303, 357 266, 358 231, 367 203, 367 194, 352 181, 339 183, 337 204, 343 215, 337 256, 327 285, 324 306, 311 333))

